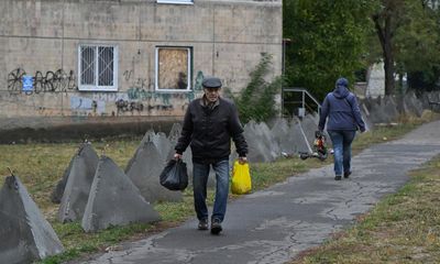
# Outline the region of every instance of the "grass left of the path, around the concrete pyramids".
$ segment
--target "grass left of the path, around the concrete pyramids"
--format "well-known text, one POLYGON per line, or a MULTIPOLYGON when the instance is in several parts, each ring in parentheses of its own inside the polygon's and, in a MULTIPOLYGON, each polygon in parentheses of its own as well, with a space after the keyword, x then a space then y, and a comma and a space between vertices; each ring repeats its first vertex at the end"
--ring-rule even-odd
MULTIPOLYGON (((372 132, 361 134, 354 142, 353 150, 359 152, 371 144, 394 140, 416 128, 427 119, 410 120, 395 127, 377 128, 372 132)), ((141 139, 121 140, 109 142, 94 142, 98 154, 105 154, 124 168, 134 154, 141 139)), ((29 189, 46 219, 53 224, 58 234, 65 253, 47 257, 42 263, 62 263, 80 256, 102 252, 109 246, 114 246, 121 241, 134 240, 151 233, 175 227, 194 216, 191 189, 184 193, 183 202, 158 202, 154 208, 162 217, 162 221, 153 224, 130 224, 127 227, 112 227, 96 233, 82 231, 79 222, 62 224, 56 220, 58 205, 50 201, 50 196, 56 183, 68 166, 78 143, 65 144, 16 144, 0 145, 0 180, 8 175, 7 167, 14 170, 15 175, 29 189)), ((297 157, 279 158, 273 163, 251 164, 252 184, 254 190, 266 188, 273 184, 284 182, 288 177, 304 173, 312 167, 331 163, 331 158, 320 162, 316 158, 301 161, 297 157)), ((238 196, 231 195, 231 198, 238 196)), ((212 205, 213 191, 208 194, 208 204, 212 205)))

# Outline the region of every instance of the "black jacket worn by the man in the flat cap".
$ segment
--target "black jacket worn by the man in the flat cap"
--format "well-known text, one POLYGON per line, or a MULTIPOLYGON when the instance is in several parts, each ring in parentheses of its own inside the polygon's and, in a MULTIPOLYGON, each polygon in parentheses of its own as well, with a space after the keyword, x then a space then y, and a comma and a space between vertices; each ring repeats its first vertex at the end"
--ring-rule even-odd
POLYGON ((235 106, 219 98, 218 106, 211 109, 204 106, 202 98, 199 98, 188 106, 175 150, 182 154, 190 143, 194 162, 216 163, 229 158, 231 139, 234 141, 237 153, 245 156, 248 144, 235 106))

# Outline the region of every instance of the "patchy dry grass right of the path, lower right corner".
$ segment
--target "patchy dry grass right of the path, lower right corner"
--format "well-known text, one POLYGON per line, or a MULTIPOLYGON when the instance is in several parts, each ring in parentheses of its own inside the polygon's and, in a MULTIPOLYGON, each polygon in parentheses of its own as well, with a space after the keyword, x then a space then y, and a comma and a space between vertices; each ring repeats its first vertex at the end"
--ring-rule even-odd
POLYGON ((440 156, 411 173, 359 224, 306 252, 299 263, 440 263, 440 156))

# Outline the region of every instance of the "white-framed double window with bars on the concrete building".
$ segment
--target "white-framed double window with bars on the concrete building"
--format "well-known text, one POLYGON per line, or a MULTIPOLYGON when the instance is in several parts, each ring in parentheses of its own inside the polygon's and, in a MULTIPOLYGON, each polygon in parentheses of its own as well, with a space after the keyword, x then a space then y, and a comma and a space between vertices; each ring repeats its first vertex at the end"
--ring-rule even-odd
POLYGON ((79 45, 78 90, 118 90, 118 47, 79 45))

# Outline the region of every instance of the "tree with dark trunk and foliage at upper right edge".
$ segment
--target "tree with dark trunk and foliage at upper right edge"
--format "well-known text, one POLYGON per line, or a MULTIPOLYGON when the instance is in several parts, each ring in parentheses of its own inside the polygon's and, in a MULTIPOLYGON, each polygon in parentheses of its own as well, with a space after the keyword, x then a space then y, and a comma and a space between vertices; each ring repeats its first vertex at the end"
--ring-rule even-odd
POLYGON ((373 12, 385 69, 385 94, 395 94, 395 79, 426 89, 440 74, 439 11, 437 0, 378 0, 373 12))

